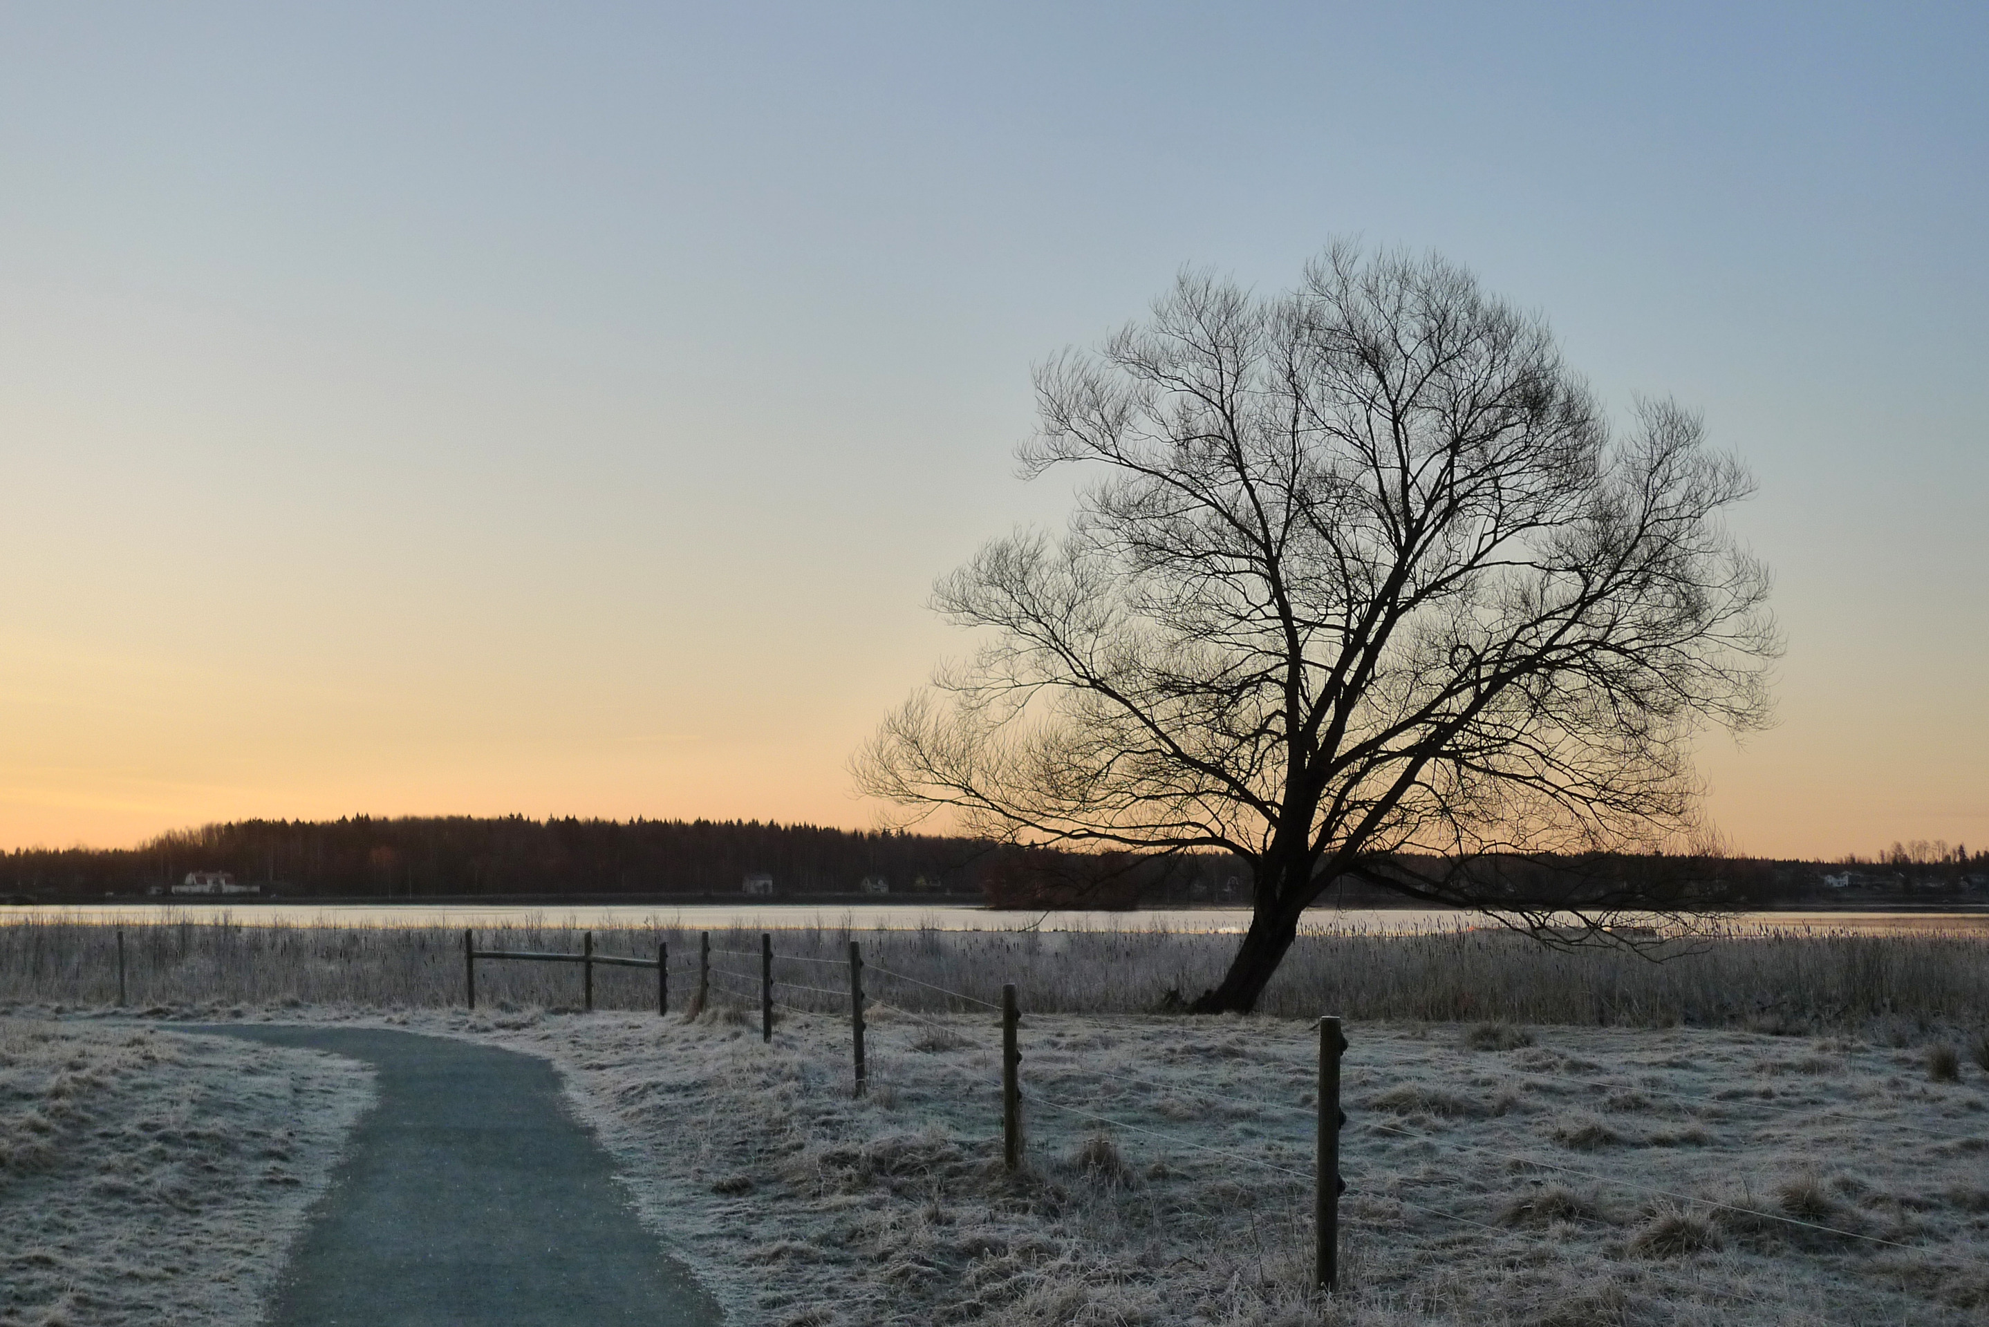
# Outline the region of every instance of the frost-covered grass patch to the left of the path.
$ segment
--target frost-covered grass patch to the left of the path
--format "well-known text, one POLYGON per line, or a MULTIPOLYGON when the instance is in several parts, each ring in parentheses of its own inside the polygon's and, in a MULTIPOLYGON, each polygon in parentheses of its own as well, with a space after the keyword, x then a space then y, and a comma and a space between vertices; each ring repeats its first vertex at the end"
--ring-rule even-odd
POLYGON ((370 1100, 312 1050, 0 1013, 0 1323, 257 1321, 370 1100))

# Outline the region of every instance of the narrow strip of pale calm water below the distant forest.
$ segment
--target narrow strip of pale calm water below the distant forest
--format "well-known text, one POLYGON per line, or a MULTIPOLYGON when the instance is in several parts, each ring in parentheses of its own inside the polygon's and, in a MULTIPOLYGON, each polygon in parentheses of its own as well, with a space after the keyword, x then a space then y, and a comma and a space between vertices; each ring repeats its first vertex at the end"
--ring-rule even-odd
MULTIPOLYGON (((919 907, 915 903, 861 905, 734 905, 702 903, 668 907, 652 903, 611 903, 589 907, 509 907, 501 903, 46 903, 0 907, 8 921, 233 921, 237 925, 360 925, 360 927, 503 927, 565 925, 609 931, 633 925, 674 925, 686 931, 782 931, 851 927, 857 931, 1207 931, 1235 933, 1249 927, 1245 907, 1177 907, 1136 913, 1106 911, 989 911, 985 907, 919 907)), ((1305 915, 1305 931, 1356 935, 1420 935, 1428 931, 1468 931, 1488 927, 1482 917, 1434 909, 1315 909, 1305 915)), ((1989 911, 1973 913, 1732 913, 1728 931, 1740 935, 1834 931, 1862 935, 1981 935, 1989 937, 1989 911)))

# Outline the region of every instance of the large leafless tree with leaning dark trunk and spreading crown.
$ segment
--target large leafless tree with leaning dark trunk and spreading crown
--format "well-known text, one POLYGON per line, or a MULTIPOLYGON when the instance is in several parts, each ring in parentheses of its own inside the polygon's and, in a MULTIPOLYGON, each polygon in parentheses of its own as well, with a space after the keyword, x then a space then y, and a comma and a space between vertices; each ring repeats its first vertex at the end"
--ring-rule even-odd
POLYGON ((1472 863, 1675 842, 1695 730, 1766 722, 1768 575, 1720 523, 1748 474, 1669 402, 1611 436, 1452 263, 1341 245, 1269 298, 1183 273, 1036 396, 1024 474, 1092 481, 1062 537, 937 583, 985 643, 853 768, 977 834, 1247 861, 1197 1011, 1251 1009, 1339 879, 1512 921, 1472 863))

